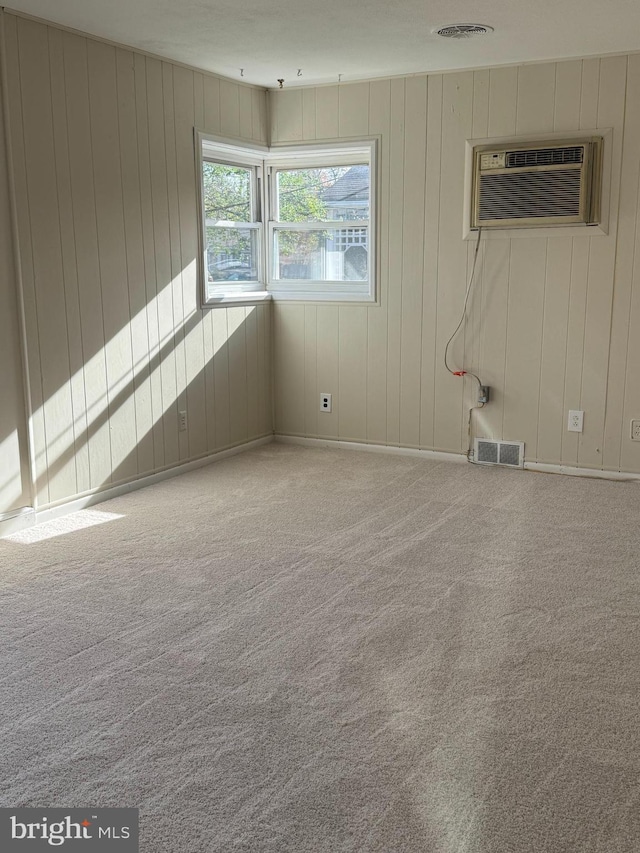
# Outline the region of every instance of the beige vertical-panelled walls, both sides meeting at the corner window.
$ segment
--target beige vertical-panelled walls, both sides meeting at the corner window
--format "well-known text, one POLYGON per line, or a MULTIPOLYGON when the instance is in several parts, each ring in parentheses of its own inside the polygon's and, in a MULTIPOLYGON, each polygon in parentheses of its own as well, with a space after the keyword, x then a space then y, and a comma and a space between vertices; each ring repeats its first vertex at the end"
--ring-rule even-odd
MULTIPOLYGON (((442 365, 473 254, 465 140, 595 127, 613 128, 610 234, 483 243, 454 358, 493 390, 476 434, 523 440, 531 461, 640 471, 639 56, 274 91, 268 127, 261 90, 3 20, 41 508, 269 434, 272 334, 277 431, 466 449, 472 387, 442 365), (201 311, 194 125, 261 143, 378 136, 381 305, 201 311)), ((1 257, 3 512, 29 498, 1 257)))

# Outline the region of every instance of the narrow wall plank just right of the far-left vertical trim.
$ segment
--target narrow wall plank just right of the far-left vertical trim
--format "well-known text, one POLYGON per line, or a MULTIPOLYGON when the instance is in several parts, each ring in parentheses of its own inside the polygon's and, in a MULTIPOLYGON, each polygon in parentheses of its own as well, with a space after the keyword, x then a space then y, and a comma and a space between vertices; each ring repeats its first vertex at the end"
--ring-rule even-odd
POLYGON ((13 160, 13 180, 16 194, 16 215, 19 241, 20 268, 22 274, 22 297, 27 326, 26 352, 31 388, 33 434, 33 462, 37 479, 35 501, 46 504, 49 501, 49 482, 47 477, 46 436, 44 429, 44 407, 42 373, 40 370, 40 337, 38 302, 36 299, 33 267, 33 246, 30 236, 29 205, 27 193, 27 164, 24 150, 24 128, 22 110, 22 91, 20 81, 20 60, 18 50, 17 18, 4 14, 4 50, 7 61, 7 91, 9 108, 9 133, 13 160), (13 69, 13 73, 11 70, 13 69))

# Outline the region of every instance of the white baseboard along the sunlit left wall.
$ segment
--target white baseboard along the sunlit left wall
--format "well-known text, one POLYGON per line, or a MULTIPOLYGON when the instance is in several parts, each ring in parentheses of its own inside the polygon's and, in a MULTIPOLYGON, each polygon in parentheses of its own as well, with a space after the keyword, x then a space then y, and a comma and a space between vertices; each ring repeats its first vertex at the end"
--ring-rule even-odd
POLYGON ((251 450, 254 447, 260 447, 263 444, 270 444, 272 441, 273 436, 266 435, 262 438, 256 438, 253 441, 245 442, 244 444, 236 444, 234 447, 228 447, 225 450, 210 453, 207 456, 201 456, 199 459, 192 459, 189 462, 184 462, 182 465, 175 465, 171 468, 163 468, 161 471, 154 471, 153 474, 148 474, 147 476, 140 477, 137 480, 129 480, 124 483, 118 483, 116 486, 107 486, 107 488, 104 489, 94 489, 91 492, 85 492, 82 495, 71 498, 70 500, 48 505, 43 509, 34 510, 29 507, 19 515, 12 516, 9 519, 3 520, 0 517, 0 538, 3 536, 9 536, 12 533, 17 533, 18 530, 24 530, 26 527, 33 527, 34 524, 41 524, 43 521, 51 521, 54 518, 60 518, 63 515, 69 515, 69 513, 86 509, 88 506, 93 506, 94 504, 111 500, 111 498, 117 498, 120 497, 120 495, 126 495, 129 492, 136 491, 137 489, 152 486, 154 483, 169 480, 171 477, 186 474, 188 471, 195 471, 197 468, 204 468, 206 465, 211 465, 213 462, 219 462, 221 459, 226 459, 229 456, 235 456, 237 453, 244 453, 246 450, 251 450))

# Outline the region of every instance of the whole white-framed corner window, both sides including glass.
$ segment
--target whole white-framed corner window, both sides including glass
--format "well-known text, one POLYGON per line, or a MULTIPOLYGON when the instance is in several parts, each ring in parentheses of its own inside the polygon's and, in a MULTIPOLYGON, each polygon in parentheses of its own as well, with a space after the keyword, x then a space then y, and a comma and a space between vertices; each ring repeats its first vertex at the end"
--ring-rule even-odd
POLYGON ((205 304, 375 299, 373 142, 269 151, 196 137, 205 304))

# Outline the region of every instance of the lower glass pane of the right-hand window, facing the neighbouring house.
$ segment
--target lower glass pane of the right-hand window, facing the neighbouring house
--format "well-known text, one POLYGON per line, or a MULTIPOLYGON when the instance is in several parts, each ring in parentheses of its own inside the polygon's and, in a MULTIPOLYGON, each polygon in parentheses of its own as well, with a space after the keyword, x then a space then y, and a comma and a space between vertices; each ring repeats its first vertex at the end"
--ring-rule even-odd
POLYGON ((282 281, 366 281, 368 229, 275 231, 274 274, 282 281))

